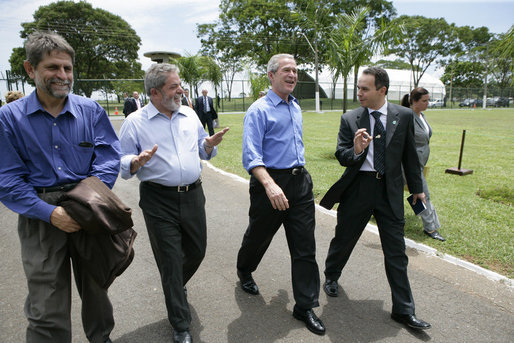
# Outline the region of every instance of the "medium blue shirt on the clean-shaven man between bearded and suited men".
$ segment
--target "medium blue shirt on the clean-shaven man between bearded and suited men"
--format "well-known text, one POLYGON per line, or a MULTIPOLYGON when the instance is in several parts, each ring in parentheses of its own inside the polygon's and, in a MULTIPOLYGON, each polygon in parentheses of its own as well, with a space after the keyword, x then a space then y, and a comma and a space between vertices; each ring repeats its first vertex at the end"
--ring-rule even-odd
POLYGON ((305 165, 302 111, 289 95, 285 102, 272 90, 246 111, 243 127, 243 166, 288 169, 305 165))

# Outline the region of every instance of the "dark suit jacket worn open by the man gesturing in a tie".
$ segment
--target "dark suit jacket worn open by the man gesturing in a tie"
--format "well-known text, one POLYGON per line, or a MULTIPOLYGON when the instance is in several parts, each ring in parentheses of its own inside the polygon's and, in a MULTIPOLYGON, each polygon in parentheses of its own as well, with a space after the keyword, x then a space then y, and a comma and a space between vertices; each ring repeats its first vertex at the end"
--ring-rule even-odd
MULTIPOLYGON (((335 155, 346 170, 321 199, 320 205, 327 209, 331 209, 344 196, 344 191, 353 182, 366 159, 368 148, 357 158, 354 157, 353 138, 355 131, 360 128, 366 128, 370 132, 366 108, 361 107, 341 116, 335 155)), ((403 218, 402 163, 409 191, 423 192, 419 160, 414 145, 414 117, 411 109, 388 104, 385 154, 385 180, 389 203, 395 216, 403 218)))

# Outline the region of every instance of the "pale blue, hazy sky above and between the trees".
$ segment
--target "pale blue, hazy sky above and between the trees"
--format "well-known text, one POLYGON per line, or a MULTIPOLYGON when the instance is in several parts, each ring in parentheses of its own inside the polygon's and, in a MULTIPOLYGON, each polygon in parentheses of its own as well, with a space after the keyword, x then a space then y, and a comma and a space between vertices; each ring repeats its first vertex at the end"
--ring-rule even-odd
MULTIPOLYGON (((125 19, 141 37, 139 50, 143 69, 152 63, 144 52, 165 50, 195 54, 200 49, 196 23, 213 22, 218 17, 219 0, 89 0, 125 19)), ((45 0, 0 0, 0 72, 9 69, 12 49, 22 46, 20 23, 32 21, 45 0)), ((457 26, 487 26, 491 32, 506 32, 514 24, 514 0, 478 1, 393 1, 398 14, 444 17, 457 26)), ((0 96, 5 85, 0 83, 0 96)))

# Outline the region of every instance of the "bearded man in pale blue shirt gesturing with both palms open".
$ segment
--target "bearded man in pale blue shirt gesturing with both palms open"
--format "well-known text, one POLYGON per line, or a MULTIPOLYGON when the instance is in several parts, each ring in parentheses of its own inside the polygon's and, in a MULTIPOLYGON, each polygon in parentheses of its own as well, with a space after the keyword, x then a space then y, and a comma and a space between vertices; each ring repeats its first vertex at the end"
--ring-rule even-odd
POLYGON ((217 153, 225 128, 207 136, 196 113, 181 106, 178 68, 152 65, 145 75, 148 105, 120 131, 121 176, 137 175, 139 206, 161 274, 174 342, 192 342, 185 285, 205 255, 207 225, 200 160, 217 153))

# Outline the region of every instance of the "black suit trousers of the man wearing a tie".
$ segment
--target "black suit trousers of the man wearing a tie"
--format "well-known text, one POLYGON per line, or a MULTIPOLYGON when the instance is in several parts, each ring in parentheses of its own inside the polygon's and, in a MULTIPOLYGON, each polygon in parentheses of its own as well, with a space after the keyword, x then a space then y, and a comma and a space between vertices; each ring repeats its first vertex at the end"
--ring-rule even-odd
POLYGON ((325 261, 325 276, 338 280, 348 262, 362 231, 373 215, 377 221, 384 264, 391 288, 393 312, 413 314, 414 299, 407 276, 408 258, 405 254, 404 224, 393 215, 387 198, 385 178, 359 173, 344 192, 337 209, 335 237, 330 242, 325 261))

